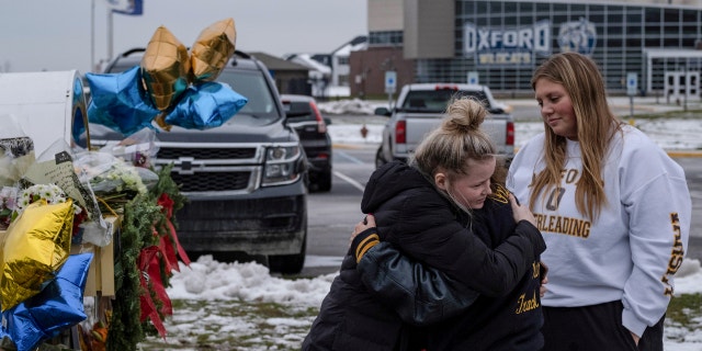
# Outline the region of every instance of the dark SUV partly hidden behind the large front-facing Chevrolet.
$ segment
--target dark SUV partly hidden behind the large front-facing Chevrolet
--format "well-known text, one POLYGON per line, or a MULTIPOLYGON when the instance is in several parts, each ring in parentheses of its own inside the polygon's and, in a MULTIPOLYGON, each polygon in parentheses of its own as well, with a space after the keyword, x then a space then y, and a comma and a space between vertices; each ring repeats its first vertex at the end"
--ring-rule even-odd
POLYGON ((287 123, 297 131, 309 166, 309 188, 327 192, 331 190, 331 137, 317 101, 308 95, 282 94, 287 123))

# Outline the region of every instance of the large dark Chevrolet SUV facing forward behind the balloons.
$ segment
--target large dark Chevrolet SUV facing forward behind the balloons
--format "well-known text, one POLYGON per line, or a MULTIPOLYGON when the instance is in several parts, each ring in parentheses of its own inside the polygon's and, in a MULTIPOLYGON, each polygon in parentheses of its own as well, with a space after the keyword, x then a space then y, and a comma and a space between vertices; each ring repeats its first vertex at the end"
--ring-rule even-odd
MULTIPOLYGON (((140 64, 144 49, 124 53, 105 73, 140 64)), ((157 167, 189 199, 176 214, 186 251, 263 257, 271 271, 303 269, 307 241, 307 160, 268 68, 236 52, 217 81, 248 103, 219 127, 173 126, 157 135, 157 167)), ((90 125, 91 144, 121 140, 118 133, 90 125)))

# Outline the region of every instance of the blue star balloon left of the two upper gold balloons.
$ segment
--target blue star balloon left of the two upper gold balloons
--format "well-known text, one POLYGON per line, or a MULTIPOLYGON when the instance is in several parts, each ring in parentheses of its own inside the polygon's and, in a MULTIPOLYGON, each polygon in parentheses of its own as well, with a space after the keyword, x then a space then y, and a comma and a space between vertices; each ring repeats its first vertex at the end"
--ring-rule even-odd
POLYGON ((86 73, 91 101, 88 121, 102 124, 129 136, 145 127, 160 113, 141 86, 139 66, 120 73, 86 73))

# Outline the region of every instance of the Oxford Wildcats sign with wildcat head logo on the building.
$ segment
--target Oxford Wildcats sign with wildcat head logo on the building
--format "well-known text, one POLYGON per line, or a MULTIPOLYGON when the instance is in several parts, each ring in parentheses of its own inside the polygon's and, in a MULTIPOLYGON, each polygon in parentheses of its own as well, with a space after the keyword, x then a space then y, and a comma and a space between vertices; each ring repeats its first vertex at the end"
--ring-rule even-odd
MULTIPOLYGON (((548 20, 508 30, 477 27, 466 22, 463 25, 463 53, 465 56, 475 55, 479 66, 532 66, 534 55, 551 55, 551 33, 548 20)), ((557 41, 562 52, 590 55, 597 42, 595 24, 585 19, 563 23, 557 41)))

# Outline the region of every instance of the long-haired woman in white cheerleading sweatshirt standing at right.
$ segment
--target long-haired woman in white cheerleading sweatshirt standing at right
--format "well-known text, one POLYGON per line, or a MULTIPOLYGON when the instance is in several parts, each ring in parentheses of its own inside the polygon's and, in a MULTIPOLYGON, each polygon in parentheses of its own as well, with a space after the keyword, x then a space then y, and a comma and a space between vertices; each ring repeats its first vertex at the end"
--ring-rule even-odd
POLYGON ((553 55, 531 80, 545 132, 512 161, 547 249, 544 350, 663 350, 673 275, 688 247, 682 168, 620 122, 597 65, 553 55))

